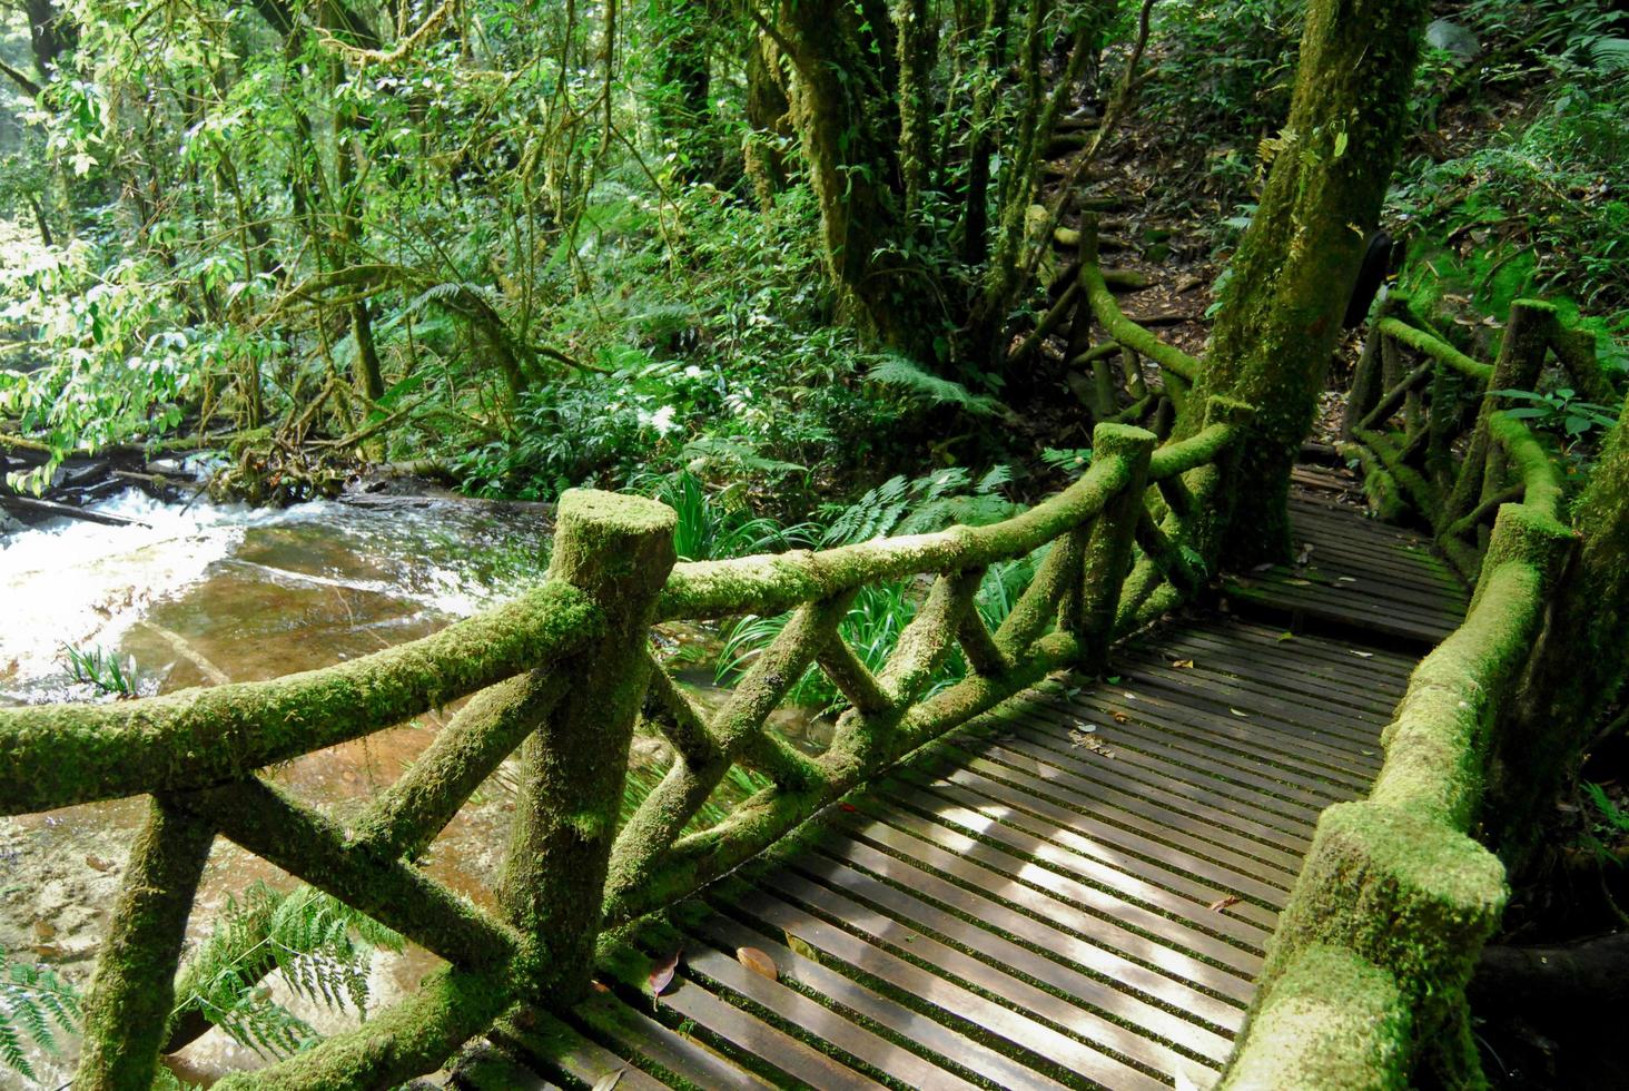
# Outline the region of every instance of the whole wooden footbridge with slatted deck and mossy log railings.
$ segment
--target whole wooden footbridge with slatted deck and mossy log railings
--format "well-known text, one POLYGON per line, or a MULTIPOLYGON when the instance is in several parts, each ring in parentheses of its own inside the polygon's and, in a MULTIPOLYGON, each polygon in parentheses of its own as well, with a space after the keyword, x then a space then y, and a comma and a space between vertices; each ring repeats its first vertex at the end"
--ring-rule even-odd
MULTIPOLYGON (((176 1021, 200 1018, 182 954, 217 837, 443 961, 223 1089, 437 1071, 598 1091, 1218 1073, 1336 1089, 1407 1086, 1445 1049, 1474 1065, 1464 983, 1505 884, 1471 832, 1495 709, 1572 540, 1561 473, 1500 391, 1531 388, 1549 352, 1588 390, 1593 359, 1521 303, 1479 364, 1393 297, 1347 450, 1368 501, 1429 537, 1300 471, 1293 563, 1217 574, 1254 411, 1186 404, 1199 362, 1119 315, 1090 263, 1080 289, 1075 321, 1163 373, 1127 409, 1155 431, 1100 421, 1083 476, 1002 523, 676 564, 670 509, 575 491, 549 579, 435 636, 272 682, 0 709, 0 814, 151 801, 73 1086, 151 1086, 176 1021), (992 566, 1025 558, 1016 603, 981 613, 992 566), (873 672, 842 623, 878 584, 925 590, 873 672), (707 713, 650 629, 741 615, 785 625, 707 713), (766 731, 810 670, 847 705, 818 755, 766 731), (282 762, 463 698, 360 812, 275 783, 282 762), (676 757, 624 820, 635 724, 676 757), (503 877, 477 905, 414 859, 515 752, 503 877), (766 786, 709 824, 736 766, 766 786)), ((1100 372, 1108 356, 1087 354, 1100 372)))

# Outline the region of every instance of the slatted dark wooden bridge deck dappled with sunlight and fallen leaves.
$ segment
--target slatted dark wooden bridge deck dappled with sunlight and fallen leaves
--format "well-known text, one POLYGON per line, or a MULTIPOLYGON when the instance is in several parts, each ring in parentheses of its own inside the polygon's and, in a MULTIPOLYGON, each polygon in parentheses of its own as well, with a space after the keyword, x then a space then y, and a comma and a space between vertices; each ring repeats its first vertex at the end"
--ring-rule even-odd
POLYGON ((1261 600, 1337 610, 1378 639, 1227 616, 1140 638, 1117 677, 1008 703, 836 809, 797 855, 697 899, 681 938, 648 941, 655 957, 683 949, 660 1003, 617 988, 567 1021, 526 1013, 454 1081, 1207 1086, 1319 811, 1380 766, 1414 659, 1373 621, 1425 639, 1463 602, 1442 589, 1438 613, 1401 612, 1385 577, 1419 554, 1310 506, 1295 519, 1319 571, 1363 576, 1315 584, 1318 599, 1269 574, 1261 600))

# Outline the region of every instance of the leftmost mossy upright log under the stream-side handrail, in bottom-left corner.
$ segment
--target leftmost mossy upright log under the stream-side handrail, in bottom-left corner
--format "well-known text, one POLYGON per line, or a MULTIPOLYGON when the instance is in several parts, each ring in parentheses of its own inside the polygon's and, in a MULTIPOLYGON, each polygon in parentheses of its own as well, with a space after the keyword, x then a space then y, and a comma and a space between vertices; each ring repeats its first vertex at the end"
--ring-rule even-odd
POLYGON ((73 1086, 147 1088, 174 1006, 176 964, 213 827, 153 799, 85 1000, 85 1049, 73 1086))

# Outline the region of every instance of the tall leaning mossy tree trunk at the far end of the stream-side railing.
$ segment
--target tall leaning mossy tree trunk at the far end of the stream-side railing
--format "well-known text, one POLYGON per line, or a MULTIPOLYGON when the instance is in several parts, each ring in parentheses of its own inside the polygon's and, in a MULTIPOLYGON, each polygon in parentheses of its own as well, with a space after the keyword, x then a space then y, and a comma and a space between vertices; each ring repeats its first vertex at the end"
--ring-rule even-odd
POLYGON ((1318 395, 1363 236, 1380 215, 1407 124, 1425 0, 1310 0, 1290 119, 1256 217, 1232 264, 1214 347, 1178 435, 1201 427, 1210 395, 1259 409, 1243 452, 1223 559, 1290 553, 1290 466, 1318 395))

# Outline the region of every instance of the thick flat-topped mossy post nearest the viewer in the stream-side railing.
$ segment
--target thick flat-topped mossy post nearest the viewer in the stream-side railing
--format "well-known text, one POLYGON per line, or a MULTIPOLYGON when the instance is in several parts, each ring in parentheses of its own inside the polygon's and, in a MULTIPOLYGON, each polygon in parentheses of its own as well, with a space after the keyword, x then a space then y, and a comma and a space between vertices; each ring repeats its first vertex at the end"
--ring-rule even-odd
POLYGON ((598 641, 564 660, 575 685, 521 747, 521 791, 500 897, 536 941, 531 993, 577 1001, 593 969, 634 721, 650 680, 650 621, 673 569, 673 509, 635 496, 560 496, 549 579, 588 592, 598 641))

